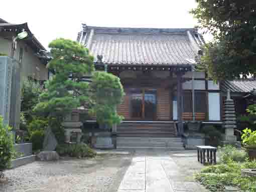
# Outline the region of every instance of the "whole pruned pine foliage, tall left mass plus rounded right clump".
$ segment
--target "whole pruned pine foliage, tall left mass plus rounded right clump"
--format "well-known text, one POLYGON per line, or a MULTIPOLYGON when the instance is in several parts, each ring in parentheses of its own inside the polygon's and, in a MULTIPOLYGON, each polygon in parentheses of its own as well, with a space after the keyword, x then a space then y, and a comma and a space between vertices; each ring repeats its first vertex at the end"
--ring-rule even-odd
POLYGON ((46 91, 34 110, 61 119, 72 109, 84 107, 96 114, 99 123, 120 122, 114 110, 123 96, 119 78, 94 72, 93 57, 77 42, 57 39, 49 47, 53 59, 48 68, 55 74, 46 82, 46 91), (92 76, 92 83, 85 81, 85 76, 92 76))

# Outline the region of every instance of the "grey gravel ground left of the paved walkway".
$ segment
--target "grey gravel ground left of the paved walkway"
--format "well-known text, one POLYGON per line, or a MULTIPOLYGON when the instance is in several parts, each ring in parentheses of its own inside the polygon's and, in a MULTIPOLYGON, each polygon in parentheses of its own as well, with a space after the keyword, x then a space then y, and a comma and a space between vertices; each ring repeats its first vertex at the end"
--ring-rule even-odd
POLYGON ((100 155, 93 159, 36 161, 5 171, 1 192, 116 191, 131 155, 100 155))

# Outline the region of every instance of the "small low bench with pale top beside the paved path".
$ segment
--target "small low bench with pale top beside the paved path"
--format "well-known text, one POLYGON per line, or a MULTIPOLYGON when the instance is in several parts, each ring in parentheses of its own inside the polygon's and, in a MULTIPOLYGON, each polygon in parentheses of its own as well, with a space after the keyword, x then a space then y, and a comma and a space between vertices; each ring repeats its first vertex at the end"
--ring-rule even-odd
POLYGON ((196 146, 196 148, 197 148, 198 162, 201 162, 203 164, 206 163, 206 159, 205 159, 205 151, 206 151, 207 152, 207 162, 209 164, 217 163, 217 161, 216 161, 217 148, 216 147, 200 145, 200 146, 196 146))

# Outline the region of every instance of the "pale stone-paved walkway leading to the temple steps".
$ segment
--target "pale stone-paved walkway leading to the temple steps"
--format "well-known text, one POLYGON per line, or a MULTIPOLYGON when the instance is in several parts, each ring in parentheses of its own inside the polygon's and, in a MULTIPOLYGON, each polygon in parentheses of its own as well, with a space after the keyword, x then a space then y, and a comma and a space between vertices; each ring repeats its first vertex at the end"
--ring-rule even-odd
POLYGON ((152 149, 136 151, 118 192, 206 191, 193 181, 194 171, 190 170, 191 167, 179 166, 175 161, 176 155, 181 161, 192 157, 197 163, 194 153, 190 153, 190 156, 188 151, 175 153, 152 149))

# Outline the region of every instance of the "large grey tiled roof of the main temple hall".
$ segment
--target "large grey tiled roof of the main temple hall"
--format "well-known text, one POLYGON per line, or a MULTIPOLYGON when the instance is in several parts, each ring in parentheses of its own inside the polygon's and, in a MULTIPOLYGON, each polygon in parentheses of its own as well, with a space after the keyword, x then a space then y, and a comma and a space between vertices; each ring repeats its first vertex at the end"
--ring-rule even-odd
POLYGON ((195 29, 104 28, 83 25, 77 41, 112 65, 187 65, 204 40, 195 29))

